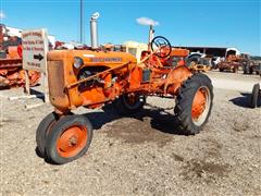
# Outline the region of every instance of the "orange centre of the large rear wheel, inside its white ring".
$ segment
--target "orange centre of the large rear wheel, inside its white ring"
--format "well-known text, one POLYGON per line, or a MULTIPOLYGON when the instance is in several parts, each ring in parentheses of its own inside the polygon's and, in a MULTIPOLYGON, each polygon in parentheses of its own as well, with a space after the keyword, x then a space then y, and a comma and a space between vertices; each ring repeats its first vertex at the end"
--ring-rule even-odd
POLYGON ((194 97, 191 117, 197 121, 204 112, 208 101, 208 91, 204 88, 199 88, 194 97))

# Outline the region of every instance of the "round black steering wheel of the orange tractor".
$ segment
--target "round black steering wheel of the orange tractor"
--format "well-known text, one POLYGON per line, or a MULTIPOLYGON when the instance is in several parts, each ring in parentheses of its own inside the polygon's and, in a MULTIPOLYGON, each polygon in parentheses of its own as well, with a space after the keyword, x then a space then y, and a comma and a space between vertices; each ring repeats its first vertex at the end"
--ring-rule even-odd
POLYGON ((151 41, 151 50, 156 51, 157 57, 166 58, 171 54, 172 46, 165 37, 157 36, 151 41))

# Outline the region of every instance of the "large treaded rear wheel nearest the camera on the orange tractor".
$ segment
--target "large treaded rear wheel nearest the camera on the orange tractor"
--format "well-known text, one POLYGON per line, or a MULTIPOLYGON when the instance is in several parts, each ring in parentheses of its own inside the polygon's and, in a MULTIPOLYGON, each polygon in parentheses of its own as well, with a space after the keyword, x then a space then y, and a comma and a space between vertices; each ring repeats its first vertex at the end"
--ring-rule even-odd
POLYGON ((189 77, 181 86, 174 112, 182 134, 194 135, 208 122, 213 103, 213 86, 201 73, 189 77))

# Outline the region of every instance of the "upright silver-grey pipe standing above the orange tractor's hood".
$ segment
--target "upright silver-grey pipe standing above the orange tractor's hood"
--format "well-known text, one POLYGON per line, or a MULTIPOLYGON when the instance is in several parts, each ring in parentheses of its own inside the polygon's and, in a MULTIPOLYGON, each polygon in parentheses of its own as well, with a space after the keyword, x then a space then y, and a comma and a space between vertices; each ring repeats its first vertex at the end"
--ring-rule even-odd
POLYGON ((90 17, 90 44, 91 44, 91 49, 97 49, 99 48, 98 44, 98 17, 100 14, 98 12, 94 13, 90 17))

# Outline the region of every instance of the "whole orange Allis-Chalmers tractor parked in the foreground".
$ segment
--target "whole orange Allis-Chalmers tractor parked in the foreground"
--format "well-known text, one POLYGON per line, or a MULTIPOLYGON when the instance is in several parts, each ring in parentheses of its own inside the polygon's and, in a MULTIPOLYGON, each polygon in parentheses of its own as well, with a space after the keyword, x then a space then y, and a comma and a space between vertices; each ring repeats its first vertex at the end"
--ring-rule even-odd
POLYGON ((40 122, 36 140, 38 151, 49 161, 66 163, 87 151, 92 138, 91 122, 71 112, 82 106, 96 109, 111 103, 120 114, 128 115, 142 109, 147 96, 172 97, 177 119, 173 130, 197 134, 207 123, 213 100, 211 81, 185 65, 164 65, 161 60, 172 51, 164 37, 151 40, 140 63, 129 53, 102 51, 97 49, 97 41, 91 42, 91 50, 48 53, 54 111, 40 122))

